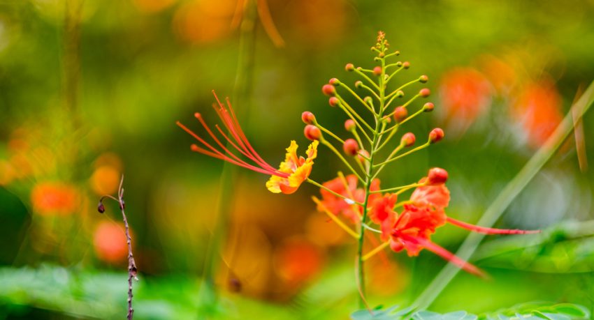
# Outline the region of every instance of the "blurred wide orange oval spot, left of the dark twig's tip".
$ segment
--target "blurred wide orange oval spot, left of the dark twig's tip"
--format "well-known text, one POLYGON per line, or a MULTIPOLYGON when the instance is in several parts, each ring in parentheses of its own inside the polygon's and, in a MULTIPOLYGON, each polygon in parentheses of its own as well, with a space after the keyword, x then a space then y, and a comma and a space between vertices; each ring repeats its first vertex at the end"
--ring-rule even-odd
POLYGON ((31 190, 33 210, 41 215, 71 214, 76 211, 78 202, 78 191, 65 183, 37 183, 31 190))

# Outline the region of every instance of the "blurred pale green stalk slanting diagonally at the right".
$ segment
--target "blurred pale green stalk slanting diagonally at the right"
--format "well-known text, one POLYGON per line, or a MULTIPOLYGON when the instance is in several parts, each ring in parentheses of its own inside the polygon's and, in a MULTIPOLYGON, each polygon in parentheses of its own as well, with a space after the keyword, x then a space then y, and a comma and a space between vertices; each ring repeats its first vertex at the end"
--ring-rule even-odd
MULTIPOLYGON (((478 225, 492 227, 501 217, 507 206, 519 195, 521 190, 539 172, 542 166, 551 158, 565 139, 572 133, 574 120, 581 119, 594 102, 594 82, 588 86, 584 94, 572 105, 570 112, 567 113, 563 121, 558 125, 553 135, 546 140, 544 145, 533 155, 524 167, 509 181, 505 188, 500 192, 495 201, 487 208, 478 225), (572 117, 572 111, 577 110, 577 114, 572 117)), ((468 261, 472 253, 477 250, 479 243, 484 238, 484 234, 470 234, 456 252, 456 255, 463 260, 468 261)), ((442 271, 433 279, 427 288, 414 300, 412 307, 416 310, 424 310, 433 303, 435 298, 440 295, 443 289, 460 271, 460 268, 454 264, 447 264, 442 271)))

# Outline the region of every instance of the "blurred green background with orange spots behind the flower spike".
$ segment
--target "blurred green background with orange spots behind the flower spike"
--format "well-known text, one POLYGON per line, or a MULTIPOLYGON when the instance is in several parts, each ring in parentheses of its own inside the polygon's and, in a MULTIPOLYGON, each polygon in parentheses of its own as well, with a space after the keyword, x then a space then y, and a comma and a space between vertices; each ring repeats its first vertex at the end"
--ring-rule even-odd
MULTIPOLYGON (((407 130, 446 139, 382 185, 443 167, 448 214, 477 222, 594 79, 592 17, 591 0, 0 0, 0 318, 123 318, 122 222, 117 204, 96 204, 125 174, 136 319, 347 319, 356 245, 316 212, 319 190, 273 195, 267 176, 238 169, 221 196, 222 162, 192 153, 175 121, 216 123, 214 89, 273 165, 291 139, 307 146, 305 110, 345 137, 320 88, 352 84, 346 63, 372 68, 385 31, 411 63, 398 82, 428 75, 436 106, 407 130), (211 265, 216 302, 200 289, 211 265)), ((472 262, 491 280, 460 274, 430 310, 593 308, 593 125, 586 114, 496 226, 543 234, 488 237, 472 262)), ((338 170, 321 148, 311 177, 338 170)), ((444 227, 433 240, 455 251, 466 235, 444 227)), ((406 306, 444 265, 386 250, 368 264, 370 304, 406 306)))

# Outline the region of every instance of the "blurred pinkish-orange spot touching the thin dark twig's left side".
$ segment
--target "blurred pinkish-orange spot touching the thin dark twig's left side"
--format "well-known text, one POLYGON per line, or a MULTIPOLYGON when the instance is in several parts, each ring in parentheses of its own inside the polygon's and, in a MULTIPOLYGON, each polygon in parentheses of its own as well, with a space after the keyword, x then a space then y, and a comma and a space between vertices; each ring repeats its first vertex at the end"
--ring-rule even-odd
POLYGON ((124 225, 121 223, 99 222, 93 236, 93 246, 97 257, 110 263, 121 263, 128 256, 128 244, 124 225))

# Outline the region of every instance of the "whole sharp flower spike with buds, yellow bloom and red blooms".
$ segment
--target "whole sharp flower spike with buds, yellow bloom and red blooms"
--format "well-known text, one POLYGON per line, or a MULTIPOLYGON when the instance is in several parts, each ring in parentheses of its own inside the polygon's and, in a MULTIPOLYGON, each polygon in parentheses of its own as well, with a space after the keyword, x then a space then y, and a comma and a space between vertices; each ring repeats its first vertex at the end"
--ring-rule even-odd
POLYGON ((345 66, 345 70, 355 73, 360 78, 354 82, 355 89, 337 78, 330 79, 328 84, 321 88, 322 93, 329 97, 328 104, 340 109, 347 116, 345 130, 349 137, 340 137, 340 134, 321 125, 312 112, 303 112, 301 115, 301 120, 305 123, 303 134, 307 139, 312 140, 312 144, 306 151, 307 158, 298 157, 297 144, 291 142, 287 148, 286 159, 280 164, 279 169, 268 165, 254 151, 240 128, 229 100, 225 106, 217 98, 218 107, 215 106, 228 133, 224 133, 219 125, 215 128, 224 138, 227 146, 206 125, 200 114, 196 114, 196 119, 200 121, 217 147, 178 122, 182 129, 200 143, 200 146, 196 144, 191 146, 193 151, 270 175, 266 187, 271 192, 290 194, 295 192, 304 181, 317 185, 320 188, 321 199, 312 197, 317 204, 317 210, 326 213, 331 220, 358 241, 356 269, 361 301, 364 301, 365 287, 363 262, 384 250, 385 247, 391 247, 395 252, 406 251, 409 256, 416 256, 421 250, 426 249, 465 271, 481 275, 482 272, 477 267, 459 259, 431 241, 431 235, 446 223, 484 234, 537 232, 477 227, 449 218, 445 213, 450 200, 449 190, 445 185, 448 173, 441 168, 430 169, 427 176, 416 183, 394 188, 380 188, 378 176, 386 166, 440 142, 444 138, 444 131, 441 128, 433 128, 428 132, 425 142, 418 146, 415 146, 416 136, 412 132, 405 132, 400 135, 400 139, 395 139, 406 123, 420 114, 432 112, 435 109, 433 102, 425 102, 421 107, 414 108, 414 102, 430 96, 429 89, 410 90, 410 87, 415 84, 428 82, 428 77, 421 75, 397 86, 396 89, 389 89, 391 87, 389 84, 396 79, 396 75, 409 69, 411 63, 389 62, 389 59, 400 55, 400 52, 389 51, 389 43, 383 32, 379 32, 377 43, 371 49, 372 52, 377 53, 375 56, 377 66, 370 69, 355 67, 352 63, 347 63, 345 66), (339 89, 345 92, 345 96, 339 93, 339 89), (367 96, 362 96, 361 92, 367 96), (405 98, 408 96, 410 98, 405 98), (354 107, 353 100, 361 107, 354 107), (367 114, 361 116, 361 111, 367 114), (396 143, 393 143, 395 140, 396 143), (319 144, 326 146, 336 155, 348 170, 347 175, 338 172, 336 178, 326 183, 317 183, 309 177, 319 144), (229 146, 237 152, 231 152, 229 146), (390 146, 392 146, 391 151, 390 146), (242 160, 241 156, 249 161, 242 160), (408 191, 412 191, 410 197, 399 201, 403 193, 408 191), (363 252, 365 238, 372 237, 371 232, 379 236, 381 244, 369 252, 363 252))

